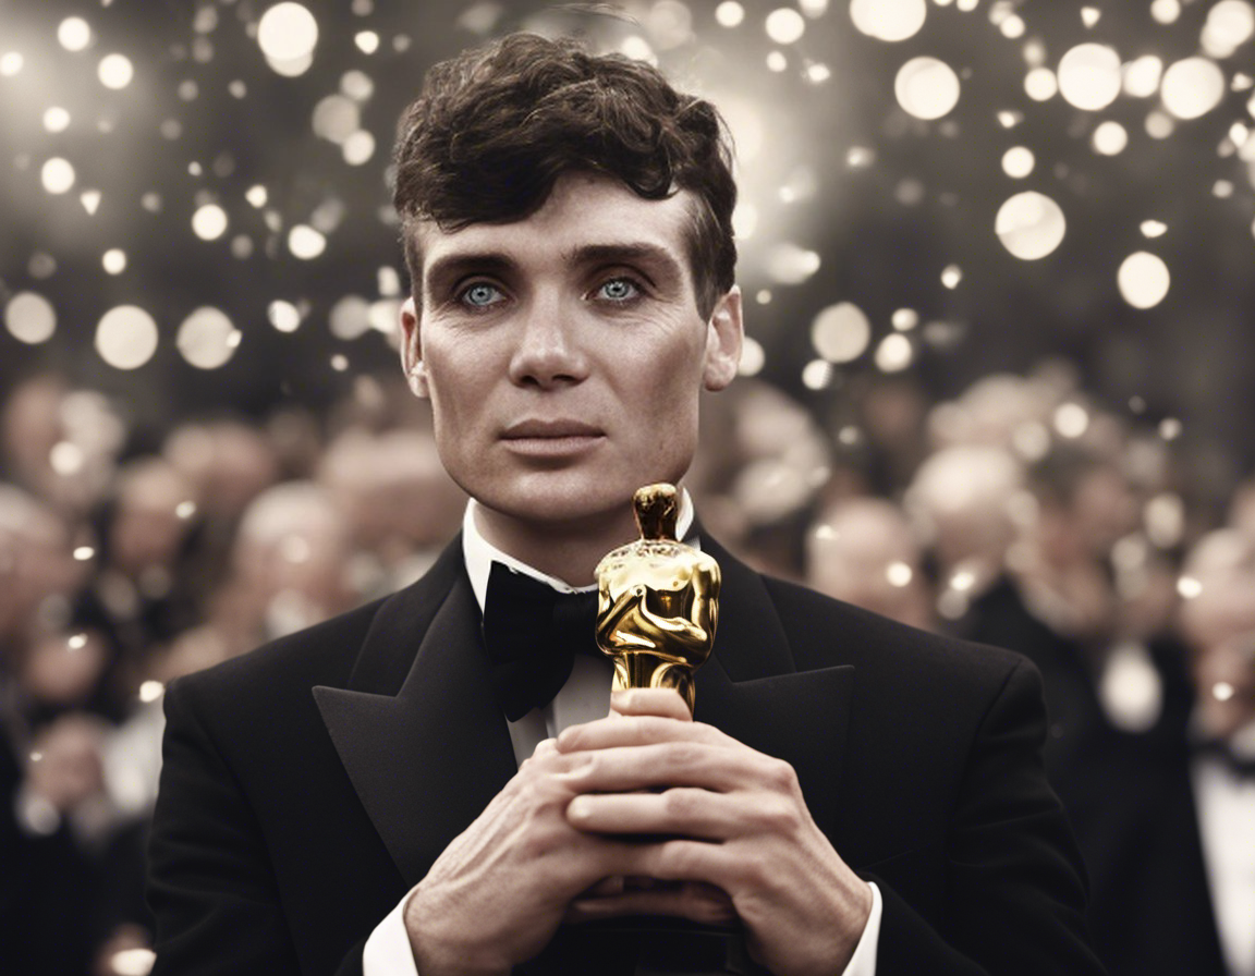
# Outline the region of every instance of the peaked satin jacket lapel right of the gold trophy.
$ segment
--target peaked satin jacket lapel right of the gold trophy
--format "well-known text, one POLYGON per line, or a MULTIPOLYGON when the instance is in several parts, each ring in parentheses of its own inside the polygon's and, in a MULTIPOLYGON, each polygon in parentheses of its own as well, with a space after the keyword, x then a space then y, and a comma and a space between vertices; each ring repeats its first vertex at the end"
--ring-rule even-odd
POLYGON ((762 577, 708 537, 702 548, 719 562, 723 587, 714 652, 697 674, 694 718, 789 763, 811 815, 835 839, 855 669, 797 671, 762 577))

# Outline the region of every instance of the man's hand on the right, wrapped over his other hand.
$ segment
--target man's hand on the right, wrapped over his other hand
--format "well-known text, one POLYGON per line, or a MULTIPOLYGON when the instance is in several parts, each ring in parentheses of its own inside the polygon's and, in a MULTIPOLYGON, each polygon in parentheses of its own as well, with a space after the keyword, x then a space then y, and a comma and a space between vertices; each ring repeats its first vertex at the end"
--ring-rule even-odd
POLYGON ((717 916, 730 902, 750 955, 772 972, 840 973, 866 926, 871 888, 811 819, 793 768, 692 721, 671 690, 616 692, 612 709, 557 739, 557 758, 572 761, 563 790, 580 794, 566 818, 590 835, 659 835, 626 848, 635 857, 625 873, 671 883, 604 886, 576 899, 567 920, 713 921, 703 911, 717 916))

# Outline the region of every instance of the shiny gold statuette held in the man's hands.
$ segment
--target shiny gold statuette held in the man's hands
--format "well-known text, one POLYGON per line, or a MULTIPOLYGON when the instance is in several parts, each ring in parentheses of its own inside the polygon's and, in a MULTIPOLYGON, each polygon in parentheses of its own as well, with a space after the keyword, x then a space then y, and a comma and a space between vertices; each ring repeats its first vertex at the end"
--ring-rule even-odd
POLYGON ((597 646, 614 689, 674 687, 693 711, 693 674, 710 656, 719 563, 675 537, 679 496, 646 484, 633 497, 640 538, 597 563, 597 646))

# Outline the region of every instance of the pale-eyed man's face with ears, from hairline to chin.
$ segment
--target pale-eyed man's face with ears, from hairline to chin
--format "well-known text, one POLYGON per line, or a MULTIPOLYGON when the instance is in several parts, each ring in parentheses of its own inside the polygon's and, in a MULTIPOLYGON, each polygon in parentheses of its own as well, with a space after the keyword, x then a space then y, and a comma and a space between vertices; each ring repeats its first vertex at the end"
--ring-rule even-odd
POLYGON ((698 312, 690 206, 567 174, 526 220, 418 230, 403 364, 444 467, 482 504, 596 521, 688 469, 699 393, 725 386, 740 351, 739 294, 698 312))

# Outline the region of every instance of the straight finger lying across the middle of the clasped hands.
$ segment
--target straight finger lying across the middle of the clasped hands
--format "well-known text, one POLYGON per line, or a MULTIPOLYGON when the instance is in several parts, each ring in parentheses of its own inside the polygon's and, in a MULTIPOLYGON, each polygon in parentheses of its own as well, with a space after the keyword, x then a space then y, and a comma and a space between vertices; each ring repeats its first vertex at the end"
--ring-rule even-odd
POLYGON ((584 794, 567 804, 566 819, 587 833, 681 834, 729 841, 749 834, 791 833, 801 813, 786 797, 673 787, 663 793, 584 794))

